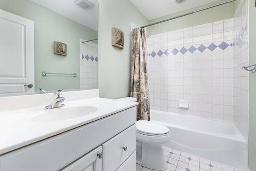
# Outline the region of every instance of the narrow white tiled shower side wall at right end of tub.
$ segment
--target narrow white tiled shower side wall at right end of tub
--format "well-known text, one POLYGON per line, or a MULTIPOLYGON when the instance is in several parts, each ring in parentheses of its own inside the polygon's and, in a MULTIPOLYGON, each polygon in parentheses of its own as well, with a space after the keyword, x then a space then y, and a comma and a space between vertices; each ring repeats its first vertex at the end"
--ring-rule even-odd
MULTIPOLYGON (((248 141, 249 72, 241 67, 249 64, 248 0, 240 0, 234 13, 233 49, 233 122, 248 141)), ((252 30, 253 31, 253 30, 252 30)))

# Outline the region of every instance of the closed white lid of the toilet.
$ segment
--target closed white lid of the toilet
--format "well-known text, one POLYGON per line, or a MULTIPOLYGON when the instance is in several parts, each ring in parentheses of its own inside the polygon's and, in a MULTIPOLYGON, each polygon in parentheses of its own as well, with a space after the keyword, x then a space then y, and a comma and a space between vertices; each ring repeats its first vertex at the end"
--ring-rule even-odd
POLYGON ((151 121, 145 121, 145 120, 138 120, 136 122, 136 129, 137 132, 146 133, 150 135, 160 135, 160 134, 166 134, 169 132, 168 127, 154 123, 151 121))

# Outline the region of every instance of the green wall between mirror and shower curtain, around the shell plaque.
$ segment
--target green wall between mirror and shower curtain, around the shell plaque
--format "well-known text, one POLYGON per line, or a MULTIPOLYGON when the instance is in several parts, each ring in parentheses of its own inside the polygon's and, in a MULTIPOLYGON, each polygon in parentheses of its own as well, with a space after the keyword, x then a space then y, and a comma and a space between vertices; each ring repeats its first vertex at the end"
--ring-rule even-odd
POLYGON ((130 95, 130 22, 137 26, 148 20, 130 0, 99 0, 99 89, 100 97, 118 98, 130 95), (124 32, 124 49, 111 45, 111 28, 124 32))

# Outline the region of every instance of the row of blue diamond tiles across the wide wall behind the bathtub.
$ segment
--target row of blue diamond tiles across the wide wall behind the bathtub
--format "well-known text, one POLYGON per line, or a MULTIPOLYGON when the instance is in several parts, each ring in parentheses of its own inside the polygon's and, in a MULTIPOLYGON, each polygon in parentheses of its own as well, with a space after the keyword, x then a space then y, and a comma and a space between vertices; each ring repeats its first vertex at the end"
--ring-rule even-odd
POLYGON ((214 51, 216 48, 225 50, 226 48, 228 48, 228 46, 234 47, 235 45, 239 46, 240 45, 239 41, 233 42, 232 44, 227 44, 226 42, 222 42, 218 46, 216 44, 212 43, 208 47, 201 44, 198 48, 196 48, 195 46, 191 46, 188 49, 185 47, 182 47, 180 50, 178 50, 177 48, 174 48, 173 50, 166 49, 164 52, 162 50, 159 50, 158 52, 157 51, 151 52, 151 54, 148 54, 148 56, 152 56, 154 58, 156 55, 161 57, 163 54, 165 54, 166 56, 169 56, 170 54, 177 55, 178 52, 180 52, 181 54, 185 54, 186 52, 190 52, 191 54, 193 54, 196 50, 198 50, 200 52, 204 52, 206 49, 209 49, 210 51, 214 51))

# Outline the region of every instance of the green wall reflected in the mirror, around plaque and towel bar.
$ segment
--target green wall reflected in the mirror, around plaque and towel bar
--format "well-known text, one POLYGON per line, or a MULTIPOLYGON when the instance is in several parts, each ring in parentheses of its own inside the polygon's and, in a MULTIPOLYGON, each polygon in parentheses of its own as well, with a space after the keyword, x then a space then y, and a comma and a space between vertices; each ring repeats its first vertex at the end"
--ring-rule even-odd
POLYGON ((42 71, 80 75, 79 39, 97 38, 97 32, 30 0, 0 0, 0 9, 34 21, 35 88, 79 89, 79 77, 42 77, 42 71), (53 54, 54 41, 67 44, 67 56, 53 54))

